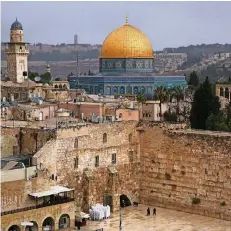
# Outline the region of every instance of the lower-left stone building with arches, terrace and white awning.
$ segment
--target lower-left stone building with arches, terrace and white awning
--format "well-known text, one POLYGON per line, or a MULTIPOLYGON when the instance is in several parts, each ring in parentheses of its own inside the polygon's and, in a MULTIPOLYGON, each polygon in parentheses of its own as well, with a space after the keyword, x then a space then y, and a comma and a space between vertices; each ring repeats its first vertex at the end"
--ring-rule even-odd
POLYGON ((30 230, 30 225, 33 231, 44 230, 48 225, 51 230, 74 227, 73 189, 59 185, 48 172, 32 163, 33 155, 51 138, 51 130, 2 129, 2 231, 30 230))

